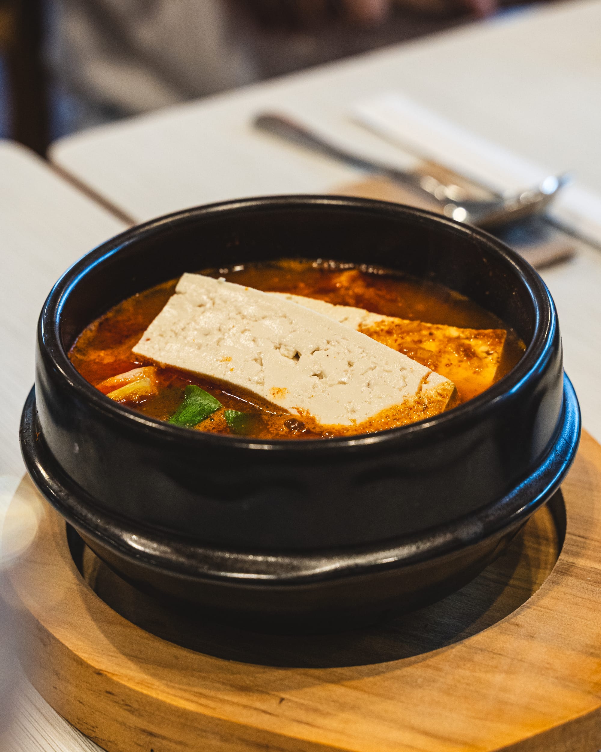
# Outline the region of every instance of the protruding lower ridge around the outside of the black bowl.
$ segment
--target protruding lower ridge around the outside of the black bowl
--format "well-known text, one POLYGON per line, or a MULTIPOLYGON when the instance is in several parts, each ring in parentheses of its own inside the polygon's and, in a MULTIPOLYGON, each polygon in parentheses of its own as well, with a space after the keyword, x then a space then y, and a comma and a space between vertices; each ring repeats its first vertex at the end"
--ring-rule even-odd
POLYGON ((310 553, 217 549, 104 512, 86 491, 64 475, 47 449, 38 426, 35 387, 23 408, 20 438, 29 475, 41 493, 75 529, 110 550, 195 581, 291 587, 409 566, 452 554, 500 531, 517 529, 560 487, 578 449, 580 427, 578 399, 564 374, 562 414, 553 445, 536 469, 502 499, 451 524, 418 534, 310 553))

